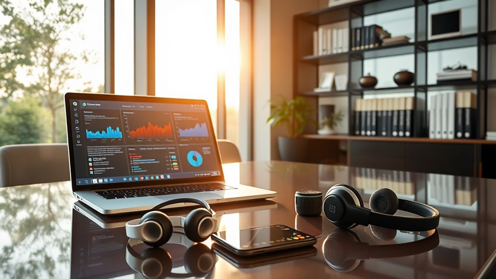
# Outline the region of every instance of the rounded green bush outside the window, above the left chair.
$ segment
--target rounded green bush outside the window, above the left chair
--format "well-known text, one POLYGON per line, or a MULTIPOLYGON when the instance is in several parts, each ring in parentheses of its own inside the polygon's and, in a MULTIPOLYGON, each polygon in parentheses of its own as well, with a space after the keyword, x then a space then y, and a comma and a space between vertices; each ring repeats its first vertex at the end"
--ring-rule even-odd
POLYGON ((50 121, 50 114, 33 98, 8 101, 0 113, 0 145, 47 142, 50 121))

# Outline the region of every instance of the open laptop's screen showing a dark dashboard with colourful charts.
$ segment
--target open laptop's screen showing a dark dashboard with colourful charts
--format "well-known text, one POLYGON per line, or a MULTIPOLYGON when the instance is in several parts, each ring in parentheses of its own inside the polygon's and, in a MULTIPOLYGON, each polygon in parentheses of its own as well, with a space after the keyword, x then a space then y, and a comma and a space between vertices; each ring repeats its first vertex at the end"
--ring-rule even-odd
POLYGON ((222 176, 205 101, 68 94, 76 186, 222 176))

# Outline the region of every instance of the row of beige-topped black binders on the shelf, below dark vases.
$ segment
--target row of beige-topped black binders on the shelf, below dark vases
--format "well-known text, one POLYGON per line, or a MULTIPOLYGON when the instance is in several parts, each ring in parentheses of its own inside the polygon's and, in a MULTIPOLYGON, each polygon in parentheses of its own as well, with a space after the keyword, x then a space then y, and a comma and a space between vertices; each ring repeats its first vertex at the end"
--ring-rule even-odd
POLYGON ((357 99, 353 131, 361 136, 412 137, 414 97, 357 99))

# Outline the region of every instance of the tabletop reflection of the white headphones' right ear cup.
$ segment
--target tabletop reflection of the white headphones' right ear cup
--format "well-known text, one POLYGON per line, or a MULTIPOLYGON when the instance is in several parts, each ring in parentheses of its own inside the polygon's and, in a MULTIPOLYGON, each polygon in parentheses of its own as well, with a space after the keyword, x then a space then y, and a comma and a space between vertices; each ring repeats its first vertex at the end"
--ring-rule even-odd
POLYGON ((196 243, 186 250, 184 263, 186 272, 193 277, 204 277, 215 266, 216 256, 203 243, 196 243))

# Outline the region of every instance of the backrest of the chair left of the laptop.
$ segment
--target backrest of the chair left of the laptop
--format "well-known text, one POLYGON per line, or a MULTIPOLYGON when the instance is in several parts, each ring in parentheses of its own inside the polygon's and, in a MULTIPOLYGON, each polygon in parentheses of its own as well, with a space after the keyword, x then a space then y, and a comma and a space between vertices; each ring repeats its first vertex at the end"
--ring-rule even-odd
POLYGON ((69 179, 69 155, 65 143, 0 147, 0 187, 69 179))

